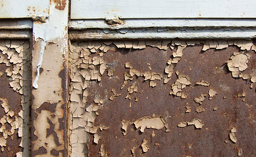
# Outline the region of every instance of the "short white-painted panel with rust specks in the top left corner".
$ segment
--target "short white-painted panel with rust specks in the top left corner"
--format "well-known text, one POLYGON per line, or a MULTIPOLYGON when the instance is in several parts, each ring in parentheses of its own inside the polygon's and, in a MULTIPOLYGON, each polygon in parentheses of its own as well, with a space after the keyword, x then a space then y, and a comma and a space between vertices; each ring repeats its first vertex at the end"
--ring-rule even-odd
POLYGON ((49 0, 0 0, 0 18, 46 17, 49 4, 49 0))

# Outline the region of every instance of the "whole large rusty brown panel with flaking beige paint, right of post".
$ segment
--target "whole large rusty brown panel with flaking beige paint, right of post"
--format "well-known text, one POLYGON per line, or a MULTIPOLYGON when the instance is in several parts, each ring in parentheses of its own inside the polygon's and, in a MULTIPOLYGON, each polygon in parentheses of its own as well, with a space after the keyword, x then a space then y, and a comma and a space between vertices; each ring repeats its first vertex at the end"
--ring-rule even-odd
POLYGON ((70 44, 70 156, 255 156, 255 48, 70 44))

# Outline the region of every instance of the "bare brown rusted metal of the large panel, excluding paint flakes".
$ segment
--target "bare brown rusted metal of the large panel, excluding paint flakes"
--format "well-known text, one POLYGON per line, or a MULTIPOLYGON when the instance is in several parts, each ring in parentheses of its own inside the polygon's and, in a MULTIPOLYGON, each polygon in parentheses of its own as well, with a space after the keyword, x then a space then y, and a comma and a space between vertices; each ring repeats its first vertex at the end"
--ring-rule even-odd
MULTIPOLYGON (((239 49, 236 46, 224 50, 210 49, 206 52, 201 49, 202 45, 185 48, 182 59, 175 67, 175 71, 188 75, 192 82, 182 91, 188 95, 186 99, 169 95, 170 85, 177 79, 174 73, 167 84, 163 84, 163 79, 156 80, 157 86, 154 88, 149 87, 148 80, 134 76, 134 80, 128 80, 128 84, 120 90, 124 73, 128 71, 124 67, 126 62, 130 62, 139 71, 154 71, 165 77, 166 62, 176 48, 168 48, 166 52, 151 46, 144 50, 111 48, 105 53, 103 59, 108 66, 115 69, 114 75, 108 77, 104 73, 100 82, 91 82, 86 107, 93 103, 95 97, 103 97, 104 103, 97 111, 99 115, 96 116, 95 126, 104 125, 109 129, 98 132, 101 136, 98 145, 93 143, 93 135, 90 134, 90 156, 100 156, 102 144, 108 156, 131 156, 133 147, 136 147, 136 156, 237 156, 238 150, 242 150, 242 156, 255 156, 255 86, 249 88, 249 81, 232 78, 226 66, 226 61, 233 52, 239 52, 239 49), (211 86, 195 85, 195 82, 202 79, 211 82, 211 86), (138 86, 138 92, 131 94, 132 100, 125 99, 127 88, 132 84, 138 86), (202 93, 208 94, 211 88, 218 94, 211 100, 209 96, 206 97, 201 105, 205 109, 203 113, 195 112, 199 104, 195 103, 194 97, 202 93), (111 101, 111 89, 122 95, 111 101), (244 100, 243 97, 238 97, 243 92, 246 93, 244 100), (185 113, 186 106, 192 107, 190 113, 185 113), (134 124, 130 124, 128 134, 122 135, 122 120, 134 122, 153 114, 167 118, 170 132, 165 132, 165 129, 145 129, 141 133, 134 124), (194 126, 177 127, 180 122, 191 121, 193 118, 199 118, 205 126, 201 129, 195 129, 194 126), (234 127, 238 130, 237 143, 233 143, 228 137, 234 127), (145 153, 141 150, 144 138, 148 139, 149 145, 149 150, 145 153)), ((256 56, 253 53, 245 73, 255 71, 255 61, 256 56)))

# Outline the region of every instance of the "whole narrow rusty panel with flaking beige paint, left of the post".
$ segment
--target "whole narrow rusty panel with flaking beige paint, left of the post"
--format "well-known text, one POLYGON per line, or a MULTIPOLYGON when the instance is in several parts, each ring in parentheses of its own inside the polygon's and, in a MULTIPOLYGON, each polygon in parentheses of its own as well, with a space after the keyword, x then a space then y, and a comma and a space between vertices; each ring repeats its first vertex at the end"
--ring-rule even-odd
POLYGON ((30 156, 31 48, 0 40, 0 156, 30 156))

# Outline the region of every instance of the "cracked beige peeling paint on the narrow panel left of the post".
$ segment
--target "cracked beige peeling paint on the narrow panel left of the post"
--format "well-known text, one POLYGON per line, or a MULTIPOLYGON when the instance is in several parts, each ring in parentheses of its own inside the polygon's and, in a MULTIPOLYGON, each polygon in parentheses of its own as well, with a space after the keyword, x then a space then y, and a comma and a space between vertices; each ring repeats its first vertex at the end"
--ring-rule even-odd
MULTIPOLYGON (((3 133, 3 137, 1 137, 1 141, 3 142, 1 143, 1 150, 7 153, 5 152, 5 148, 9 149, 7 141, 9 137, 12 139, 15 137, 17 139, 14 139, 14 141, 22 149, 18 149, 17 147, 13 149, 12 153, 16 153, 16 156, 29 156, 30 44, 27 41, 3 40, 0 41, 0 52, 0 63, 5 64, 7 68, 5 73, 2 72, 1 75, 7 75, 9 77, 9 87, 13 88, 13 91, 17 92, 21 97, 20 103, 15 104, 16 109, 19 109, 21 106, 20 111, 11 108, 14 104, 9 104, 7 98, 0 98, 1 106, 5 111, 5 115, 1 118, 0 130, 3 133), (9 125, 11 125, 11 128, 9 128, 9 125), (19 138, 21 138, 20 142, 19 138)), ((7 92, 8 90, 5 89, 5 91, 7 92)), ((13 99, 16 99, 16 96, 13 96, 13 99)))

